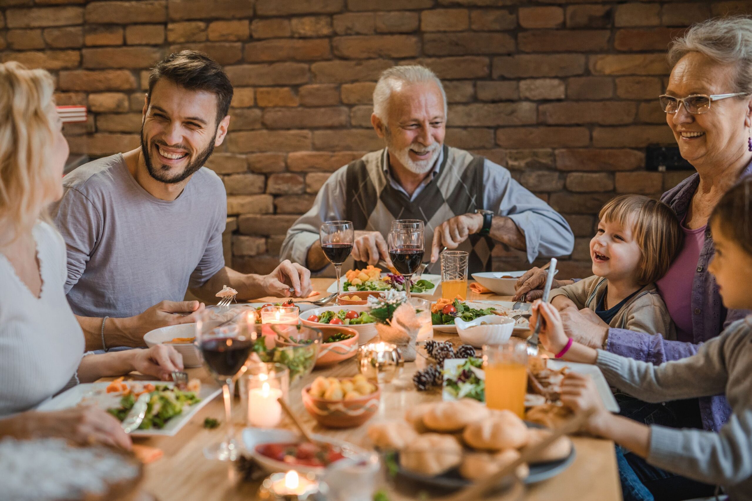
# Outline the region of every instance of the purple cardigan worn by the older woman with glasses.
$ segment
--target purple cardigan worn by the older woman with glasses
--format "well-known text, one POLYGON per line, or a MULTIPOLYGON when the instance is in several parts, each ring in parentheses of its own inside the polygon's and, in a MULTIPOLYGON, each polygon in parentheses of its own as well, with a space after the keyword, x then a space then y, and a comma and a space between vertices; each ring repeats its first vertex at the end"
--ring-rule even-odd
MULTIPOLYGON (((752 176, 752 163, 747 165, 741 178, 752 176)), ((740 179, 741 179, 740 178, 740 179)), ((661 201, 672 207, 679 219, 687 213, 690 201, 699 185, 699 174, 693 174, 664 193, 661 201)), ((716 337, 732 321, 744 318, 750 312, 743 309, 727 310, 718 294, 718 286, 708 264, 714 253, 713 237, 710 228, 705 230, 705 245, 700 251, 695 278, 692 282, 692 333, 694 343, 669 341, 660 334, 650 335, 626 329, 608 329, 606 351, 634 358, 635 360, 662 364, 694 355, 702 343, 716 337)), ((705 430, 718 431, 731 415, 726 397, 701 397, 699 399, 702 426, 705 430)))

